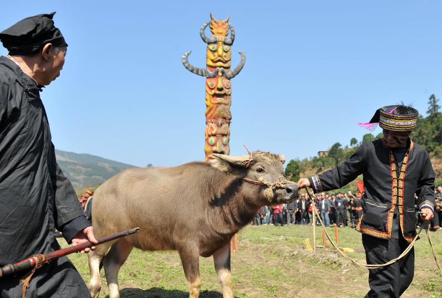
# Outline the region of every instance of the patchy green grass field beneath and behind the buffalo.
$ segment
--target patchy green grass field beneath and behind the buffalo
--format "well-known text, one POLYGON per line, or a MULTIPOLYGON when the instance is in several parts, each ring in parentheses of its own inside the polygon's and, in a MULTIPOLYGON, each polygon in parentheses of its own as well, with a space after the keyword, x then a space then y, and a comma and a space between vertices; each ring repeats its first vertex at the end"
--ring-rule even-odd
MULTIPOLYGON (((328 228, 334 237, 334 228, 328 228)), ((317 244, 322 230, 316 228, 317 244)), ((431 233, 442 259, 442 231, 431 233)), ((234 294, 237 298, 360 298, 368 291, 368 271, 352 265, 330 249, 308 252, 312 226, 248 226, 238 235, 239 252, 232 253, 234 294)), ((425 233, 415 244, 414 281, 403 298, 442 298, 442 278, 425 233)), ((64 241, 60 244, 65 247, 64 241)), ((361 236, 351 228, 338 229, 338 244, 355 250, 349 255, 365 262, 361 236)), ((70 259, 89 282, 86 255, 70 259)), ((222 298, 213 259, 200 258, 202 298, 222 298)), ((100 297, 109 297, 104 271, 100 297)), ((188 298, 186 279, 176 251, 150 252, 134 249, 119 273, 122 298, 188 298)))

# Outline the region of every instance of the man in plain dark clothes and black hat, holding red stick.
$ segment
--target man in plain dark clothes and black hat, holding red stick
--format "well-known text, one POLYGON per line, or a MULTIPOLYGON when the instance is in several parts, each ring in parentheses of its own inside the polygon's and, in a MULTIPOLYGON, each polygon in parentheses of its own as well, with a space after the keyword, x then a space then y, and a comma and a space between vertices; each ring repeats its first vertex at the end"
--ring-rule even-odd
MULTIPOLYGON (((60 249, 55 228, 68 243, 96 243, 77 195, 55 161, 40 99, 42 87, 59 76, 66 54, 54 14, 26 18, 0 33, 9 52, 0 57, 0 266, 60 249)), ((21 297, 23 274, 0 279, 0 297, 21 297)), ((74 265, 61 257, 34 273, 26 297, 90 294, 74 265)))

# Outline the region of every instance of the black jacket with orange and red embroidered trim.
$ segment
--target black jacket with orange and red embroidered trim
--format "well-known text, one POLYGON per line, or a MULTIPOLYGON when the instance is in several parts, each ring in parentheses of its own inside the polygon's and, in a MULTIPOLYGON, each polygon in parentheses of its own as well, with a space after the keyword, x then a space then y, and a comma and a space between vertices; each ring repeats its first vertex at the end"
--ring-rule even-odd
POLYGON ((394 203, 399 207, 399 224, 404 238, 411 242, 416 234, 414 193, 419 209, 434 210, 434 172, 428 153, 408 140, 402 162, 382 139, 363 143, 350 160, 309 178, 315 192, 339 189, 363 174, 364 214, 357 230, 379 238, 391 238, 394 203))

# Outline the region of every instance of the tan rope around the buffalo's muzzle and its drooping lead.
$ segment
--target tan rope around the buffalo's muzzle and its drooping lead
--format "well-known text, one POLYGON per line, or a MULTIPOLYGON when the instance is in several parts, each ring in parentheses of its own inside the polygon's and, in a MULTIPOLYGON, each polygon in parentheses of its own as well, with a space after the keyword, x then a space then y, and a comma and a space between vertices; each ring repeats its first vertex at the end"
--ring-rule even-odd
MULTIPOLYGON (((289 183, 292 184, 292 183, 293 183, 292 181, 285 180, 285 178, 282 177, 282 176, 279 177, 278 180, 277 180, 276 182, 274 182, 274 183, 267 182, 267 181, 264 180, 264 178, 261 178, 259 181, 249 180, 249 179, 244 179, 244 180, 247 181, 247 182, 250 182, 250 183, 254 183, 254 184, 267 185, 268 189, 266 189, 266 190, 269 190, 269 189, 271 189, 272 187, 285 189, 285 188, 286 188, 286 187, 285 187, 286 184, 289 184, 289 183)), ((408 245, 408 247, 407 247, 407 248, 406 248, 406 249, 405 249, 405 250, 404 250, 404 251, 403 251, 403 252, 402 252, 397 258, 392 259, 391 261, 388 261, 388 262, 385 263, 385 264, 376 264, 376 265, 374 265, 374 264, 373 264, 373 265, 370 265, 370 264, 362 264, 362 263, 358 263, 358 262, 356 262, 355 260, 353 260, 353 259, 352 259, 351 257, 349 257, 347 254, 345 254, 342 250, 340 250, 339 247, 337 247, 336 244, 334 244, 334 242, 331 240, 331 237, 330 237, 329 233, 327 232, 327 230, 326 230, 326 228, 325 228, 325 226, 324 226, 324 223, 322 222, 321 216, 318 214, 318 211, 316 210, 316 207, 315 207, 315 204, 314 204, 313 198, 311 197, 311 195, 310 195, 310 193, 309 193, 308 191, 307 191, 307 195, 308 195, 308 198, 309 198, 309 200, 310 200, 310 202, 311 202, 311 204, 312 204, 312 206, 313 206, 313 210, 314 210, 316 216, 318 217, 319 222, 321 223, 321 225, 322 225, 322 227, 323 227, 323 229, 324 229, 324 231, 325 231, 325 234, 326 234, 326 236, 327 236, 327 239, 330 241, 331 245, 333 245, 333 247, 336 248, 337 251, 339 251, 339 253, 340 253, 344 258, 346 258, 347 260, 349 260, 350 262, 352 262, 352 263, 355 264, 356 266, 359 266, 360 268, 364 268, 364 269, 380 269, 380 268, 382 268, 382 267, 385 267, 385 266, 388 266, 388 265, 393 264, 394 262, 396 262, 396 261, 402 259, 403 257, 405 257, 405 256, 410 252, 410 250, 412 250, 412 248, 413 248, 413 246, 414 246, 414 243, 416 242, 416 240, 417 240, 417 238, 418 238, 420 232, 422 232, 422 229, 425 228, 425 231, 426 231, 426 234, 427 234, 427 238, 428 238, 428 242, 430 243, 431 250, 433 251, 433 256, 434 256, 434 259, 435 259, 435 261, 436 261, 436 265, 438 266, 439 271, 440 271, 440 273, 441 273, 441 277, 442 277, 441 264, 439 263, 439 260, 438 260, 438 258, 437 258, 437 256, 436 256, 436 252, 434 251, 433 242, 431 241, 431 237, 430 237, 430 234, 429 234, 428 222, 424 223, 424 224, 420 227, 420 229, 419 229, 419 231, 417 232, 416 236, 414 237, 413 241, 408 245)), ((313 223, 313 224, 315 224, 315 223, 313 223)))

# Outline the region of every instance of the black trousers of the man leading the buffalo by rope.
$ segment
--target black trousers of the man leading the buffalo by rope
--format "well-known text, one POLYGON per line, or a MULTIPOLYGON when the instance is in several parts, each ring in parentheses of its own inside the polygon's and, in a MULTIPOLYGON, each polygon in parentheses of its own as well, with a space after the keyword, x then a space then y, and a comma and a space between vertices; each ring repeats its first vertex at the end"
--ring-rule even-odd
MULTIPOLYGON (((399 234, 401 234, 399 232, 399 234)), ((381 239, 362 234, 367 264, 384 264, 397 258, 409 245, 400 239, 381 239)), ((381 269, 370 270, 368 298, 399 298, 413 281, 414 248, 399 261, 381 269)))

